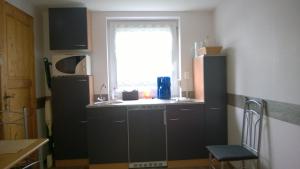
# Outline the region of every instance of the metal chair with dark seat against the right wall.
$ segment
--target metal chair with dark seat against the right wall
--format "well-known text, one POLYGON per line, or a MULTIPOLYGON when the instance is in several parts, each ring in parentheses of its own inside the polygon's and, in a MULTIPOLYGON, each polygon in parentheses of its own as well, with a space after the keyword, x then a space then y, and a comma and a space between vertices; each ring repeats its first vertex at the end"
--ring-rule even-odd
MULTIPOLYGON (((244 169, 245 160, 258 160, 264 110, 264 100, 257 101, 246 98, 241 145, 207 146, 210 169, 215 169, 213 161, 221 162, 221 169, 224 169, 224 162, 241 161, 244 169)), ((259 167, 258 162, 257 167, 259 167)))

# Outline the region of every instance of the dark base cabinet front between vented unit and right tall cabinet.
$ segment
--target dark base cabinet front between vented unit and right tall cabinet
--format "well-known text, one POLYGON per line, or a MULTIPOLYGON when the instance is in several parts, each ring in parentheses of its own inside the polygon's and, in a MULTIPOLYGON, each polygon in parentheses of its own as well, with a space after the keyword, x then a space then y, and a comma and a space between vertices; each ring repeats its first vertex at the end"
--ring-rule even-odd
POLYGON ((168 160, 206 157, 203 105, 167 106, 168 160))

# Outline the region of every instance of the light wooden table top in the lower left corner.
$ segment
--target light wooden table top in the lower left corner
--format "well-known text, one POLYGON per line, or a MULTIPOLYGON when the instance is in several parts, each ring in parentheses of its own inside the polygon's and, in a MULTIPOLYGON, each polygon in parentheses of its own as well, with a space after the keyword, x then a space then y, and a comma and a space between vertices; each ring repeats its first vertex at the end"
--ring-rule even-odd
MULTIPOLYGON (((13 167, 15 164, 20 162, 22 159, 30 155, 32 152, 40 148, 42 145, 48 142, 48 139, 26 139, 26 140, 18 140, 21 142, 28 142, 30 141, 30 144, 26 146, 25 148, 17 151, 16 153, 5 153, 0 154, 0 169, 9 169, 13 167)), ((1 142, 1 140, 0 140, 1 142)), ((2 142, 3 143, 3 142, 2 142)), ((16 143, 14 140, 7 141, 5 140, 5 146, 16 146, 16 143)), ((2 144, 3 146, 3 144, 2 144)), ((13 147, 12 147, 13 148, 13 147)))

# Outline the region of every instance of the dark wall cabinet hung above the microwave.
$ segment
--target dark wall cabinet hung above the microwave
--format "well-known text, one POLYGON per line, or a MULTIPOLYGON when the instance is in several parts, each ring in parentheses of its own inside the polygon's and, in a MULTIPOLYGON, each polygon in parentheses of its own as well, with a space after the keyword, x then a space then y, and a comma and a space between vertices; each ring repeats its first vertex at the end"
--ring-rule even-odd
POLYGON ((87 50, 89 17, 86 8, 49 8, 50 50, 87 50))

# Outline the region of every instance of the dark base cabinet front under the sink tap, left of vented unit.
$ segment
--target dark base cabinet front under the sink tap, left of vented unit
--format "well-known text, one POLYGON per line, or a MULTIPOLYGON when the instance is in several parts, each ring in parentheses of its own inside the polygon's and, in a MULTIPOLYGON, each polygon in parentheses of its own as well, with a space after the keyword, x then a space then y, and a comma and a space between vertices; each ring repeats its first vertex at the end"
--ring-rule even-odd
POLYGON ((91 164, 128 161, 126 107, 88 108, 91 164))

